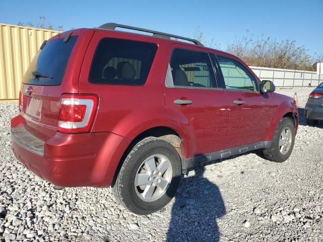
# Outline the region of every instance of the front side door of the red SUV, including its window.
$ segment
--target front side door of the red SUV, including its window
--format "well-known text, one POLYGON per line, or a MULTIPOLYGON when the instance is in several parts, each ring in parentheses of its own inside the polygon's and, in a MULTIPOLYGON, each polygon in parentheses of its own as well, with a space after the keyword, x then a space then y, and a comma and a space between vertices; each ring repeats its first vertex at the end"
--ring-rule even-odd
POLYGON ((230 107, 228 144, 238 147, 264 141, 270 128, 272 93, 261 94, 260 82, 238 59, 217 56, 230 107))

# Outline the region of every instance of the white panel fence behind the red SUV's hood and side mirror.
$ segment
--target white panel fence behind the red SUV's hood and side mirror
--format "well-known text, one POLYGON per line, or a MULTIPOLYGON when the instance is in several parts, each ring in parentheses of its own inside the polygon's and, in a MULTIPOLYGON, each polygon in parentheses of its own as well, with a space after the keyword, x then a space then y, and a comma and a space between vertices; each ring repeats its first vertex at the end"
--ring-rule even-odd
POLYGON ((317 75, 316 72, 250 67, 251 70, 260 78, 260 80, 273 81, 276 87, 307 87, 317 86, 323 81, 323 75, 317 75))

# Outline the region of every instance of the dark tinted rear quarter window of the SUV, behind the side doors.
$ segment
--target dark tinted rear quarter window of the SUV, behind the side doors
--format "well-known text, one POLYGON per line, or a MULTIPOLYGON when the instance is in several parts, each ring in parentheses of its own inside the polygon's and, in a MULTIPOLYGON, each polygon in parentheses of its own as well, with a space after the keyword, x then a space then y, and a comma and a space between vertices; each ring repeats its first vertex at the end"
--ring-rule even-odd
POLYGON ((143 85, 148 77, 156 44, 134 40, 100 40, 89 75, 96 84, 143 85))

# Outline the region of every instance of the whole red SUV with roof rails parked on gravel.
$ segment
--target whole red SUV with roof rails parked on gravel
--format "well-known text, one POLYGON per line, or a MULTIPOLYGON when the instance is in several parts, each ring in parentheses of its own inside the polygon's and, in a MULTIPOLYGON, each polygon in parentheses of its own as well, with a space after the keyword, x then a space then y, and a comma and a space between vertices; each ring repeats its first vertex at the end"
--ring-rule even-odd
POLYGON ((285 161, 298 112, 274 91, 236 56, 194 39, 114 23, 72 30, 45 41, 30 64, 12 148, 56 186, 111 186, 147 214, 196 164, 255 149, 285 161))

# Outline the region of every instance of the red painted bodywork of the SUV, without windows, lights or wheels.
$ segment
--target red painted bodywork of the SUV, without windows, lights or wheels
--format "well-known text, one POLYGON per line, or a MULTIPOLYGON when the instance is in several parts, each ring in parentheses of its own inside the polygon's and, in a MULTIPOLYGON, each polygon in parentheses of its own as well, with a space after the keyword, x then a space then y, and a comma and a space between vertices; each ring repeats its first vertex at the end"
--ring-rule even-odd
MULTIPOLYGON (((52 39, 64 38, 65 34, 52 39)), ((177 132, 182 139, 182 155, 189 158, 243 144, 270 141, 280 119, 286 113, 298 115, 293 99, 277 93, 165 86, 167 66, 174 47, 225 55, 241 62, 230 54, 119 31, 78 29, 73 30, 72 35, 79 37, 62 84, 31 86, 31 95, 22 97, 23 111, 11 121, 12 127, 23 125, 28 132, 45 142, 43 157, 26 150, 14 140, 12 147, 17 158, 27 168, 55 185, 109 187, 131 141, 150 128, 169 127, 177 132), (157 44, 157 52, 145 85, 121 86, 88 82, 93 54, 99 40, 104 37, 157 44), (98 96, 97 112, 89 133, 58 132, 63 94, 98 96), (187 106, 175 105, 174 100, 181 98, 192 100, 193 103, 187 106), (233 104, 234 100, 243 100, 246 104, 237 106, 233 104)), ((260 84, 260 80, 256 76, 255 78, 260 84)), ((28 86, 30 85, 22 84, 21 91, 24 92, 28 86)))

